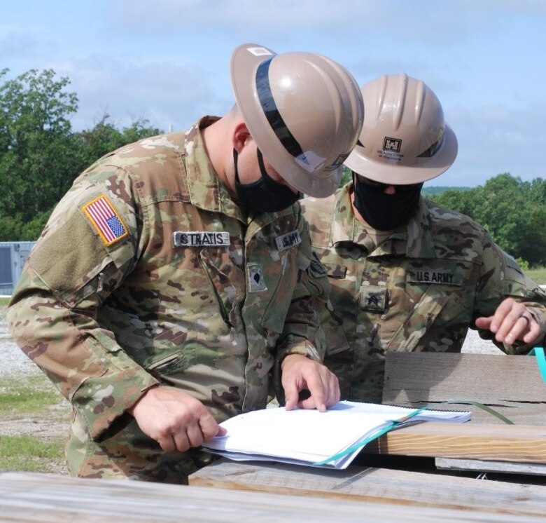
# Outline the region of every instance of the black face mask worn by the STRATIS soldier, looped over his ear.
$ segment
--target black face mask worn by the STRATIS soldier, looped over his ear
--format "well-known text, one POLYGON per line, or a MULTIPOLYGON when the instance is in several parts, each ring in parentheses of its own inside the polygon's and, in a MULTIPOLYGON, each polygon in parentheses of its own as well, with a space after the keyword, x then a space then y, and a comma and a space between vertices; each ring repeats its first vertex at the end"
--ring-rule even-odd
POLYGON ((279 184, 269 177, 263 165, 262 152, 260 149, 256 149, 256 151, 262 177, 251 184, 241 184, 237 171, 237 156, 239 155, 233 149, 237 198, 242 205, 256 212, 277 212, 290 207, 300 197, 300 193, 293 193, 286 185, 279 184))

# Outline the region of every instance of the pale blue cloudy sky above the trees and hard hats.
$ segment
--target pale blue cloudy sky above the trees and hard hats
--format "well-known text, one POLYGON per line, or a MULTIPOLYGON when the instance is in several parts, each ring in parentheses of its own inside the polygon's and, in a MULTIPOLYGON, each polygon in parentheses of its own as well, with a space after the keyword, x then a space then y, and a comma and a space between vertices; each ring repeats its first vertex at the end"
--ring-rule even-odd
POLYGON ((359 84, 406 72, 442 102, 458 157, 428 186, 477 186, 510 172, 546 176, 545 0, 3 1, 0 69, 67 76, 73 128, 106 112, 184 130, 234 102, 240 43, 305 50, 342 63, 359 84))

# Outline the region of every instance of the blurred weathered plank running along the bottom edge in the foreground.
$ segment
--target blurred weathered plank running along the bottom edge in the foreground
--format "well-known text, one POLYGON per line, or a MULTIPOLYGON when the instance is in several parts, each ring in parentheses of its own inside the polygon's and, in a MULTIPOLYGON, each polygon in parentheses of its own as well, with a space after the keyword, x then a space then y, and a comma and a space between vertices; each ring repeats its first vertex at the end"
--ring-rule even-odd
MULTIPOLYGON (((286 472, 283 473, 286 478, 286 472)), ((291 474, 290 474, 291 475, 291 474)), ((239 475, 243 477, 244 475, 239 475)), ((372 483, 372 482, 370 482, 372 483)), ((484 483, 484 482, 482 482, 484 483)), ((402 482, 399 482, 402 485, 402 482)), ((409 489, 411 485, 407 485, 409 489)), ((258 490, 258 489, 253 489, 258 490)), ((470 494, 472 494, 470 492, 470 494)), ((510 493, 507 493, 510 495, 510 493)), ((512 498, 509 512, 489 510, 478 503, 465 510, 405 503, 373 503, 345 499, 332 503, 319 498, 321 493, 305 496, 236 491, 214 487, 186 487, 128 480, 91 480, 36 473, 0 473, 0 519, 10 522, 102 523, 117 518, 120 522, 313 522, 351 523, 538 523, 538 504, 531 496, 512 498)), ((433 494, 431 493, 431 497, 433 494)), ((468 499, 472 503, 473 497, 468 499)), ((545 500, 542 499, 542 507, 545 500)))

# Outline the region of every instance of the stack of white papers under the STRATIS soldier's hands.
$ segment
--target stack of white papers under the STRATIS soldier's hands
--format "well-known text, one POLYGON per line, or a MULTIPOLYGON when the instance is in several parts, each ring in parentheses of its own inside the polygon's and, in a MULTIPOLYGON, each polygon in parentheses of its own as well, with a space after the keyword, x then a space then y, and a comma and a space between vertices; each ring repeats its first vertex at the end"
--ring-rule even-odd
POLYGON ((236 461, 280 461, 344 469, 366 440, 420 421, 463 423, 468 411, 412 409, 342 401, 326 412, 283 407, 239 414, 221 423, 225 436, 202 444, 236 461))

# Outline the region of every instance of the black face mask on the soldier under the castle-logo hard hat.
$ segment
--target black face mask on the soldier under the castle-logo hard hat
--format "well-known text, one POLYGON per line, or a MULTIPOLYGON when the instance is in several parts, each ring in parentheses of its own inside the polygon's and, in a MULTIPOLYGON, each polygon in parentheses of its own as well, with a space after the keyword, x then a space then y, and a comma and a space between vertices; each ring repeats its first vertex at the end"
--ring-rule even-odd
POLYGON ((354 206, 370 226, 378 231, 391 231, 409 222, 417 212, 423 184, 395 186, 394 194, 386 194, 385 187, 370 186, 353 175, 354 206))

